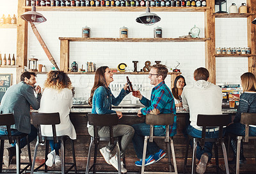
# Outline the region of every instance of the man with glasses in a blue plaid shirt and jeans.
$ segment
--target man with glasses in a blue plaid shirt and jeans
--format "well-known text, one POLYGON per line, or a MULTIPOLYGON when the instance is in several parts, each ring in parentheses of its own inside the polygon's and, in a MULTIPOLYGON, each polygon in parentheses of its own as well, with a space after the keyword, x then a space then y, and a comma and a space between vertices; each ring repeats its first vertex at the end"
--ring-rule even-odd
MULTIPOLYGON (((152 89, 150 100, 146 99, 141 95, 140 91, 134 93, 134 97, 140 99, 141 104, 144 108, 138 111, 138 116, 146 115, 147 113, 158 115, 160 113, 173 113, 174 123, 170 125, 170 136, 176 134, 176 109, 175 102, 173 99, 172 92, 164 83, 164 79, 168 74, 168 69, 165 65, 156 64, 150 68, 148 78, 150 79, 150 84, 155 87, 152 89)), ((144 136, 149 136, 150 125, 146 123, 139 123, 132 125, 134 128, 134 136, 132 138, 132 143, 136 152, 137 157, 140 159, 135 162, 136 166, 142 166, 142 155, 143 155, 143 145, 144 145, 144 136)), ((154 126, 154 136, 165 136, 165 126, 164 125, 155 125, 154 126)), ((154 162, 159 161, 166 155, 166 153, 161 150, 155 142, 148 143, 145 166, 153 164, 154 162)))

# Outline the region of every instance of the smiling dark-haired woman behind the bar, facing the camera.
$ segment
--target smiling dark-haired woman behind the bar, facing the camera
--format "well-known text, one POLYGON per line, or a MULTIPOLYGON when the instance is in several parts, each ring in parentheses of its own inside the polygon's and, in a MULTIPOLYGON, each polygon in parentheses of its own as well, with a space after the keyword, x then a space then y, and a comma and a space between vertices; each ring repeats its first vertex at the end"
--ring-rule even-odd
POLYGON ((182 108, 182 99, 180 95, 182 94, 184 86, 186 86, 185 78, 182 75, 178 75, 174 81, 174 87, 172 88, 172 95, 175 101, 176 108, 182 108))

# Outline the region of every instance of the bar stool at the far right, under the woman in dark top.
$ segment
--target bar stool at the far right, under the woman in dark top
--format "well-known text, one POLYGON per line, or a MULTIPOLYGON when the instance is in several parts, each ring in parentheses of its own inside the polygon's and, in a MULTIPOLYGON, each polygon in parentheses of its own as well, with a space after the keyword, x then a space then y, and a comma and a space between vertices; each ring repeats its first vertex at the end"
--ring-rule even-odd
POLYGON ((245 143, 249 142, 249 139, 254 139, 254 152, 256 156, 256 136, 249 136, 249 125, 256 125, 256 113, 242 113, 240 123, 245 125, 244 136, 237 136, 236 134, 228 133, 228 151, 230 146, 230 137, 237 138, 237 152, 236 152, 236 173, 239 173, 239 159, 240 159, 240 148, 241 140, 243 139, 245 143))

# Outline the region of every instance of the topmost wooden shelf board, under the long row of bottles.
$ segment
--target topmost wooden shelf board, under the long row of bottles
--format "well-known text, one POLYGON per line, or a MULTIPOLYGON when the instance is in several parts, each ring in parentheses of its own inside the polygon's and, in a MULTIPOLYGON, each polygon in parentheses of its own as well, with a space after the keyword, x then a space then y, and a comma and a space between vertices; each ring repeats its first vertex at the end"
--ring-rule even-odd
MULTIPOLYGON (((26 11, 31 6, 24 6, 26 11)), ((210 7, 150 6, 151 12, 205 12, 210 7)), ((70 12, 145 12, 145 6, 36 6, 36 11, 70 11, 70 12)))

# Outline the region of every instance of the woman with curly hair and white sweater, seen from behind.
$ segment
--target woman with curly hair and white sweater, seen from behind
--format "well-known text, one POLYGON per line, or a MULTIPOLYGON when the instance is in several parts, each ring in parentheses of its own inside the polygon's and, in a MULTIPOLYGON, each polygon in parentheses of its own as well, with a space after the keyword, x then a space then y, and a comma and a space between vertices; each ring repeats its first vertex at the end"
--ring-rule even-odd
MULTIPOLYGON (((40 113, 60 113, 60 124, 56 125, 57 136, 69 136, 76 139, 76 130, 72 125, 69 113, 72 107, 71 81, 63 71, 51 71, 47 74, 44 84, 44 93, 40 102, 40 113)), ((51 125, 42 125, 43 136, 52 136, 51 125)), ((60 141, 56 144, 51 140, 51 152, 47 155, 45 162, 47 166, 61 164, 59 155, 60 141)))

